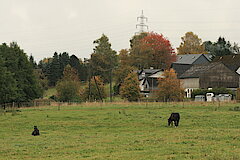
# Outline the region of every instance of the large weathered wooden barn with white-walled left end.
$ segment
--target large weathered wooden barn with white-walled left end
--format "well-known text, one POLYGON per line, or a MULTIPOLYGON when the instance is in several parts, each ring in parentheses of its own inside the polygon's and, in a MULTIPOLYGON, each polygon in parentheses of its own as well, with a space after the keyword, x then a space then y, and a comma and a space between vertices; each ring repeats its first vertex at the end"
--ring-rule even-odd
POLYGON ((180 77, 186 97, 197 88, 239 88, 240 75, 222 62, 194 65, 180 77))

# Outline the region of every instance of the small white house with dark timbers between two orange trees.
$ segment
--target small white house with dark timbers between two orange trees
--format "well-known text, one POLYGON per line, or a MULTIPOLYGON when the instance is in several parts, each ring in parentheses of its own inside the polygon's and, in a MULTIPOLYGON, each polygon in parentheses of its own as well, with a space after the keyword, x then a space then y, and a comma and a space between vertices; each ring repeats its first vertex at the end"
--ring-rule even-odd
POLYGON ((144 96, 148 96, 150 92, 157 90, 158 78, 162 78, 163 69, 142 69, 137 71, 140 91, 144 96))

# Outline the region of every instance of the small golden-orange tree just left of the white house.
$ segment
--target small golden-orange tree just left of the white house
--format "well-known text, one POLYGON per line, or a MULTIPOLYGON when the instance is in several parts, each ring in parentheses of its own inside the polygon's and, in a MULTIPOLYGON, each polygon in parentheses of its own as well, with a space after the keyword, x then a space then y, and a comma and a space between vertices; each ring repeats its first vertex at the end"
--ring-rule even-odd
POLYGON ((122 98, 127 99, 130 102, 139 100, 140 88, 136 73, 131 72, 124 79, 124 82, 120 87, 120 95, 122 98))

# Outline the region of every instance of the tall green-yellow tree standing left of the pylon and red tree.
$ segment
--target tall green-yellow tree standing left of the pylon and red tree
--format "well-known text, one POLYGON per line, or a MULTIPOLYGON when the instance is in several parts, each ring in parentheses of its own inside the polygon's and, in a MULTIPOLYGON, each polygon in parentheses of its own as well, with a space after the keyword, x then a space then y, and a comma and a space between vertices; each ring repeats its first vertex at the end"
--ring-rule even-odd
POLYGON ((101 76, 104 82, 110 82, 110 72, 117 66, 117 53, 111 48, 111 43, 104 34, 93 44, 96 46, 90 59, 92 75, 101 76))

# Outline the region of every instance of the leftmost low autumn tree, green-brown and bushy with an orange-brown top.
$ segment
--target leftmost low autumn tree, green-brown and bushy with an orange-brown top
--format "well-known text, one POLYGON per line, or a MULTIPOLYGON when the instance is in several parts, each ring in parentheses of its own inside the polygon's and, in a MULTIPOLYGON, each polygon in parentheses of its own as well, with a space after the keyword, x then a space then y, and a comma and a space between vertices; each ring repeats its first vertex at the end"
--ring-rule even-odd
POLYGON ((77 71, 70 65, 66 65, 63 78, 56 85, 57 98, 60 101, 80 101, 81 90, 77 71))

